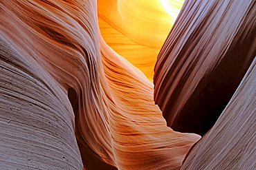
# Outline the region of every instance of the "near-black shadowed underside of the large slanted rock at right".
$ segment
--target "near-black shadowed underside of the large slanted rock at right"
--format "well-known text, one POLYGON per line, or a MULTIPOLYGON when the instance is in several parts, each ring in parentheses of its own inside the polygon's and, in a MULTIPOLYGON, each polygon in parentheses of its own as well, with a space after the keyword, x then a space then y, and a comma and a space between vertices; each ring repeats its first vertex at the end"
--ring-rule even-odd
MULTIPOLYGON (((244 28, 238 32, 244 32, 244 28)), ((230 48, 221 56, 219 64, 201 78, 182 109, 172 117, 172 111, 177 109, 176 98, 183 88, 183 82, 180 81, 167 102, 168 107, 163 110, 169 127, 175 131, 203 136, 214 126, 255 58, 255 32, 256 28, 252 28, 250 32, 234 37, 236 41, 230 43, 230 48)))

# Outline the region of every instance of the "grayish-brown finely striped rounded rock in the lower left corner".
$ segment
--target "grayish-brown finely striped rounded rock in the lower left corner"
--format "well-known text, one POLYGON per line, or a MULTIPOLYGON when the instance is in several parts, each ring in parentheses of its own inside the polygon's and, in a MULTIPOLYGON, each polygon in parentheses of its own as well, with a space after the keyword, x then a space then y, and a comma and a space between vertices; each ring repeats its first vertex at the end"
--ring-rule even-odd
POLYGON ((82 169, 68 99, 31 63, 0 36, 0 167, 82 169))

